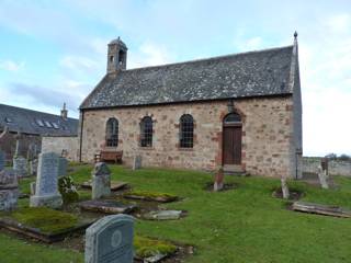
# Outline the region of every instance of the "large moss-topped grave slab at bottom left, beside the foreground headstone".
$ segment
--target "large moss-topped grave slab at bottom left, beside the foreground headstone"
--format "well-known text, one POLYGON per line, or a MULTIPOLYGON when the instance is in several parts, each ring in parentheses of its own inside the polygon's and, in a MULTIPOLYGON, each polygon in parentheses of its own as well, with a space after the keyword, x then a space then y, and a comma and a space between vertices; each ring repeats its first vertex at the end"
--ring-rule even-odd
POLYGON ((64 240, 68 235, 82 231, 93 220, 46 207, 25 207, 0 215, 0 226, 47 243, 64 240))

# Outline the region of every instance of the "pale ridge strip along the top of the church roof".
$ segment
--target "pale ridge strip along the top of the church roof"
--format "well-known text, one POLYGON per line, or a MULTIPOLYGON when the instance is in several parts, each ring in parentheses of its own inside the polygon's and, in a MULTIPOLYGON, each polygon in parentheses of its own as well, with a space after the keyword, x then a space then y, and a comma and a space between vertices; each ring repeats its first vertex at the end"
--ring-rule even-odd
POLYGON ((123 70, 122 72, 129 72, 129 71, 137 71, 137 70, 152 69, 152 68, 162 68, 162 67, 169 67, 169 66, 176 66, 176 65, 204 62, 204 61, 217 60, 217 59, 223 59, 223 58, 230 58, 230 57, 250 55, 250 54, 257 54, 257 53, 273 52, 273 50, 293 48, 293 47, 294 47, 294 45, 288 45, 288 46, 271 47, 271 48, 264 48, 264 49, 251 50, 251 52, 244 52, 244 53, 234 53, 234 54, 219 55, 219 56, 207 57, 207 58, 191 59, 191 60, 180 61, 180 62, 169 62, 169 64, 163 64, 163 65, 146 66, 146 67, 140 67, 140 68, 132 68, 132 69, 123 70))

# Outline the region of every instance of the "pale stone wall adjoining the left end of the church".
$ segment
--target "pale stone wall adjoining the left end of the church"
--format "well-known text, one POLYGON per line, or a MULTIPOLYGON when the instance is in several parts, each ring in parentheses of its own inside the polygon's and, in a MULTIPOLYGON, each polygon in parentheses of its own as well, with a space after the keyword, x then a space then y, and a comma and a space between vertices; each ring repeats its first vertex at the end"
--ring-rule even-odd
POLYGON ((44 136, 42 139, 42 153, 56 152, 61 155, 63 150, 67 152, 67 159, 78 161, 78 137, 77 136, 44 136))

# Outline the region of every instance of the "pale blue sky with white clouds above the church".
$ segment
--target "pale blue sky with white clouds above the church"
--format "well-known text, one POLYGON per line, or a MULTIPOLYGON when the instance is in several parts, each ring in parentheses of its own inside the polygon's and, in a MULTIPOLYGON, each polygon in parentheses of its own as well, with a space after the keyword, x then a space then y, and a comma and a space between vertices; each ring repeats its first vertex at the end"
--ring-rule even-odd
POLYGON ((118 36, 136 68, 287 46, 295 30, 304 155, 351 155, 350 0, 0 0, 0 103, 78 117, 118 36))

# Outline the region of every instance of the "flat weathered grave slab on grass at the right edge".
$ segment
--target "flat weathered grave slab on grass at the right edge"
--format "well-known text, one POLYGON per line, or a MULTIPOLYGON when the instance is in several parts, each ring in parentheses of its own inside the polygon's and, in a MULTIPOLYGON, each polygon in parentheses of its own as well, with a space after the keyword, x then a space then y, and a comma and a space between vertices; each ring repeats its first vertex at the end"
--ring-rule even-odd
POLYGON ((347 210, 339 206, 328 206, 328 205, 319 205, 307 202, 294 202, 292 205, 292 209, 296 211, 318 214, 324 216, 335 216, 335 217, 351 217, 351 210, 347 210))

